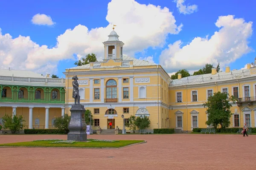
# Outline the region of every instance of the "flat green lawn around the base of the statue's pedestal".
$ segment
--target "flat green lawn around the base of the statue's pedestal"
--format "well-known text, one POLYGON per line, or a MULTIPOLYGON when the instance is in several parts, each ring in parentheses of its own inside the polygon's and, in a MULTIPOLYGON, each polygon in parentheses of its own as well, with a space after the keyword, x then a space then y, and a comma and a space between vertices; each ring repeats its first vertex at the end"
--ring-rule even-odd
POLYGON ((136 144, 140 142, 145 142, 143 140, 119 140, 119 142, 75 142, 73 144, 51 144, 54 141, 32 141, 32 142, 17 142, 17 143, 7 143, 0 144, 0 146, 13 146, 13 147, 98 147, 98 148, 119 148, 128 146, 130 144, 136 144))

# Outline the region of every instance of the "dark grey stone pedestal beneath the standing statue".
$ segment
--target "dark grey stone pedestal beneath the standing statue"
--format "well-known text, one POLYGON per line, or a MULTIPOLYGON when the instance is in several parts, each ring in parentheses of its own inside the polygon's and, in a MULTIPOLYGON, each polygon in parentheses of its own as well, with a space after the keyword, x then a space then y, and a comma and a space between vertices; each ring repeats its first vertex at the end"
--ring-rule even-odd
POLYGON ((87 141, 86 124, 84 121, 84 106, 83 105, 72 105, 71 119, 69 123, 70 132, 67 133, 67 140, 74 141, 87 141))

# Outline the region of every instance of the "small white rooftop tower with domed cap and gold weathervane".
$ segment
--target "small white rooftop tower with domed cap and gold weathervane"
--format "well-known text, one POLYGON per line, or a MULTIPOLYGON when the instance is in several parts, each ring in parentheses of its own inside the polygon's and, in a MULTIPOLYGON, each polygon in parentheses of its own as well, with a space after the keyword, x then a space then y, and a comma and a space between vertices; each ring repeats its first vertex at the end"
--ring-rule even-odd
MULTIPOLYGON (((115 26, 115 25, 114 25, 115 26)), ((119 41, 115 27, 113 26, 113 31, 108 35, 108 40, 103 42, 104 44, 104 60, 108 59, 121 59, 123 55, 123 45, 122 41, 119 41)))

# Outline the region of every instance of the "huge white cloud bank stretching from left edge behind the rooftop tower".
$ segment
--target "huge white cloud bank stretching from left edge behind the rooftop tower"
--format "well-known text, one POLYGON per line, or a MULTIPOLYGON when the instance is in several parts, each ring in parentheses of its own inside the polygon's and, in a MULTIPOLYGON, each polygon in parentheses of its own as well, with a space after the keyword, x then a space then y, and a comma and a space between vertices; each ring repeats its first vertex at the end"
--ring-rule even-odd
POLYGON ((139 4, 134 0, 112 0, 108 3, 106 20, 109 22, 106 27, 88 30, 86 26, 78 25, 67 29, 57 37, 53 48, 40 46, 30 40, 30 37, 20 36, 13 39, 9 34, 0 34, 0 62, 5 61, 1 67, 11 66, 34 71, 54 70, 52 65, 56 68, 59 60, 73 59, 74 54, 81 58, 88 53, 95 53, 99 61, 104 58, 102 42, 108 40, 112 24, 117 25, 115 31, 120 36, 119 40, 125 43, 124 54, 133 57, 134 53, 150 46, 163 47, 167 35, 178 34, 182 27, 182 24, 175 24, 175 17, 168 8, 139 4))

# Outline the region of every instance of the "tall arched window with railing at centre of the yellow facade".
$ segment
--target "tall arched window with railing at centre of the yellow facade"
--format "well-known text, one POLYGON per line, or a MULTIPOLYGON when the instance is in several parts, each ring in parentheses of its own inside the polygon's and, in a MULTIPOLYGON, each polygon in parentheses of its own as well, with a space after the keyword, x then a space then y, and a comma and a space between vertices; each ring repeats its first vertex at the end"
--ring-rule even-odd
POLYGON ((106 102, 117 102, 117 84, 114 79, 106 82, 106 102))

